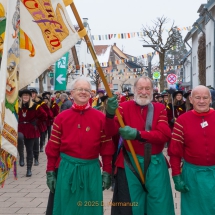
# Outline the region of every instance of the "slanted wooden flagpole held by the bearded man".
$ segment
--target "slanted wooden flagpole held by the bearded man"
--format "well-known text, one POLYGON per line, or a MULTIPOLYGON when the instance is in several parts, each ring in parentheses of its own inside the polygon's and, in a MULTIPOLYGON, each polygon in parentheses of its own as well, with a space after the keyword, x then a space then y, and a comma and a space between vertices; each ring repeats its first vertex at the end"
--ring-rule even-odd
MULTIPOLYGON (((75 4, 74 4, 73 1, 72 1, 72 3, 70 4, 70 7, 71 7, 71 9, 72 9, 72 11, 73 11, 73 14, 74 14, 74 16, 75 16, 75 18, 76 18, 76 21, 78 22, 78 25, 79 25, 79 27, 80 27, 80 31, 81 31, 81 30, 84 30, 84 29, 85 29, 85 28, 84 28, 84 25, 83 25, 83 23, 82 23, 82 20, 81 20, 79 14, 78 14, 78 11, 77 11, 77 9, 76 9, 75 4)), ((88 48, 89 48, 89 50, 90 50, 90 53, 91 53, 92 58, 93 58, 93 60, 94 60, 94 62, 95 62, 96 68, 97 68, 97 70, 98 70, 98 72, 99 72, 99 75, 100 75, 100 77, 101 77, 101 79, 102 79, 102 82, 103 82, 103 84, 104 84, 104 86, 105 86, 105 90, 107 91, 107 95, 108 95, 108 97, 110 98, 110 97, 113 96, 113 95, 112 95, 112 92, 111 92, 111 90, 110 90, 110 88, 109 88, 109 86, 108 86, 108 83, 107 83, 107 80, 106 80, 106 78, 105 78, 105 76, 104 76, 104 73, 103 73, 103 71, 102 71, 102 68, 100 67, 99 61, 98 61, 98 59, 97 59, 96 53, 95 53, 95 51, 94 51, 94 49, 93 49, 93 46, 92 46, 92 43, 91 43, 91 41, 90 41, 90 39, 89 39, 88 34, 86 34, 86 35, 84 36, 84 39, 85 39, 85 42, 87 43, 87 46, 88 46, 88 48)), ((116 116, 117 116, 117 118, 118 118, 118 121, 119 121, 120 126, 121 126, 122 128, 124 128, 124 127, 125 127, 125 124, 124 124, 124 122, 123 122, 123 120, 122 120, 122 117, 120 116, 120 113, 119 113, 119 110, 118 110, 118 109, 116 109, 116 116)), ((132 157, 133 157, 133 159, 134 159, 134 163, 135 163, 135 165, 136 165, 136 167, 137 167, 137 170, 138 170, 138 172, 139 172, 141 181, 142 181, 142 183, 144 184, 144 183, 145 183, 145 180, 144 180, 143 172, 142 172, 142 170, 141 170, 141 167, 140 167, 139 161, 138 161, 138 159, 137 159, 136 153, 135 153, 135 151, 134 151, 134 148, 133 148, 133 146, 132 146, 130 140, 126 140, 126 141, 127 141, 128 147, 129 147, 129 149, 130 149, 130 152, 131 152, 131 154, 132 154, 132 157)))

